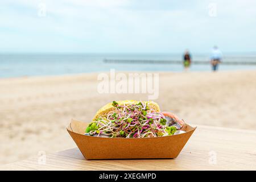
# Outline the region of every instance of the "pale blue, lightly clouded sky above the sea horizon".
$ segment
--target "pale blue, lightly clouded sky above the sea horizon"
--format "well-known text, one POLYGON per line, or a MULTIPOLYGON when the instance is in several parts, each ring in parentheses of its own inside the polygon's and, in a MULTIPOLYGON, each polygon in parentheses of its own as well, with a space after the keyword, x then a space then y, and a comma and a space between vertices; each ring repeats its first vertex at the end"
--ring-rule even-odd
POLYGON ((1 53, 256 52, 256 1, 1 0, 1 53))

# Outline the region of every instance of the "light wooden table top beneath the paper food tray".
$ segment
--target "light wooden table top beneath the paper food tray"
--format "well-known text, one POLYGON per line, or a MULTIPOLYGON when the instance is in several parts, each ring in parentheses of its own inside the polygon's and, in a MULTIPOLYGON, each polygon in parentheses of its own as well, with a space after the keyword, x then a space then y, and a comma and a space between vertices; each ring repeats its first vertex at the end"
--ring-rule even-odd
POLYGON ((0 169, 256 170, 256 131, 198 126, 176 159, 86 160, 78 148, 71 148, 5 164, 0 169))

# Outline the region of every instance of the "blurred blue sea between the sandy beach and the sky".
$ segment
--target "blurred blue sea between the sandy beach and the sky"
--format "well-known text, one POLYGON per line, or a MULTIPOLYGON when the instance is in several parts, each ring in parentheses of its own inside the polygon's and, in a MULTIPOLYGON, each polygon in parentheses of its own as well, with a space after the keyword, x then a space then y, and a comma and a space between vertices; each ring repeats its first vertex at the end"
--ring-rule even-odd
MULTIPOLYGON (((22 53, 0 54, 0 78, 23 76, 51 76, 76 73, 115 71, 144 71, 144 72, 182 72, 182 64, 158 64, 158 61, 182 61, 183 55, 176 54, 133 54, 133 53, 22 53), (150 63, 105 63, 107 60, 153 60, 150 63)), ((192 55, 193 60, 209 61, 208 54, 192 55)), ((254 62, 256 53, 229 53, 223 61, 254 62)), ((256 69, 253 65, 220 65, 220 71, 256 69)), ((189 71, 211 71, 210 64, 192 64, 189 71)))

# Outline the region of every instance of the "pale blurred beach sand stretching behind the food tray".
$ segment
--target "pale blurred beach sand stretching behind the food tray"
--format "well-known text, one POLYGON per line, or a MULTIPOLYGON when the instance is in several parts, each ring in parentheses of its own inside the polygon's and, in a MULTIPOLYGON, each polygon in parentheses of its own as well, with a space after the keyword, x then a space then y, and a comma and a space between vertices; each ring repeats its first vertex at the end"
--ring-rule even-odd
MULTIPOLYGON (((99 94, 97 73, 0 79, 0 164, 75 147, 71 118, 90 122, 113 100, 147 94, 99 94)), ((193 125, 256 130, 256 71, 160 73, 162 110, 193 125)))

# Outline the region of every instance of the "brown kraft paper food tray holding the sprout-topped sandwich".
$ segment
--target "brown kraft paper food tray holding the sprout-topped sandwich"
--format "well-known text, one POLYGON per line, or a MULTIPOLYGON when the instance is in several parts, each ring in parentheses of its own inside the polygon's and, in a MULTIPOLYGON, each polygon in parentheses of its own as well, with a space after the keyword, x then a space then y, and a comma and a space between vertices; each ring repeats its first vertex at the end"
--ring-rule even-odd
POLYGON ((84 135, 89 123, 72 119, 67 127, 85 159, 177 158, 196 127, 186 124, 185 133, 154 138, 102 138, 84 135))

